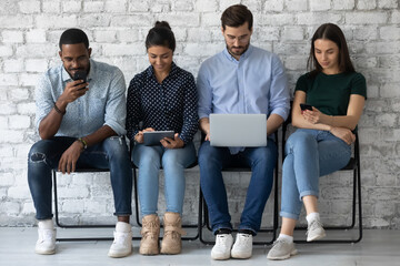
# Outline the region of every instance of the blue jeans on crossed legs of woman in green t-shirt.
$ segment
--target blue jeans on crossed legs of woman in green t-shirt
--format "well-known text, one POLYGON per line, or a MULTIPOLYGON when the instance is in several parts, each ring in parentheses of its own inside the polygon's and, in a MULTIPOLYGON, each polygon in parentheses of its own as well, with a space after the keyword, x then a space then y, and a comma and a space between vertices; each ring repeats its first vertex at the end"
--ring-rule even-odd
POLYGON ((328 131, 297 130, 286 144, 280 215, 298 219, 302 197, 319 195, 319 177, 344 167, 351 146, 328 131))

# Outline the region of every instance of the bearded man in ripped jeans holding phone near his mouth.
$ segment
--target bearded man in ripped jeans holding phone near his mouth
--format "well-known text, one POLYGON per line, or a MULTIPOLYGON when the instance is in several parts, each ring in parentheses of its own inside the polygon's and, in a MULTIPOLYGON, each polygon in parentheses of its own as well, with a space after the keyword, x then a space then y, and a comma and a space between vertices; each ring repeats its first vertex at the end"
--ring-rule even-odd
POLYGON ((51 212, 51 171, 109 168, 118 223, 109 256, 132 252, 132 170, 126 134, 126 84, 122 72, 90 59, 87 34, 69 29, 61 34, 62 64, 51 68, 36 88, 36 125, 41 140, 28 155, 28 182, 37 211, 38 254, 56 253, 51 212), (77 72, 81 73, 77 78, 77 72), (84 79, 87 76, 87 79, 84 79))

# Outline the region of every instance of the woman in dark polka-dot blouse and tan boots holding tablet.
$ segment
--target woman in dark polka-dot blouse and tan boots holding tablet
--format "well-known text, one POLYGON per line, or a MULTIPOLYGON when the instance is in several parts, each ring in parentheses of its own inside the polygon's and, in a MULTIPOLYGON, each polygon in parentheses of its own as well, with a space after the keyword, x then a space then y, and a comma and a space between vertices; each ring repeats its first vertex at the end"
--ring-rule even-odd
MULTIPOLYGON (((128 137, 136 145, 132 162, 139 167, 138 191, 142 214, 140 254, 179 254, 184 196, 184 168, 196 162, 192 143, 198 130, 194 78, 172 61, 176 40, 168 22, 156 22, 146 39, 150 66, 130 82, 127 100, 128 137), (173 131, 159 145, 146 145, 144 132, 173 131), (167 209, 164 235, 159 248, 157 214, 159 170, 164 173, 167 209)), ((161 133, 160 133, 161 134, 161 133)))

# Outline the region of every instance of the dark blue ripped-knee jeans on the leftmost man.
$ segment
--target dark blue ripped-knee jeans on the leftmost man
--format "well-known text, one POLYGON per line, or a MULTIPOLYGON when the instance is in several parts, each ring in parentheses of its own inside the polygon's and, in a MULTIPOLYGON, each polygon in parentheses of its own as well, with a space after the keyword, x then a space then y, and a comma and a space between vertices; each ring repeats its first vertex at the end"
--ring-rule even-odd
MULTIPOLYGON (((37 219, 52 218, 51 171, 58 168, 62 153, 76 137, 54 136, 33 144, 28 155, 28 183, 37 219)), ((117 216, 132 214, 132 167, 124 137, 111 136, 83 151, 77 168, 109 168, 117 216)))

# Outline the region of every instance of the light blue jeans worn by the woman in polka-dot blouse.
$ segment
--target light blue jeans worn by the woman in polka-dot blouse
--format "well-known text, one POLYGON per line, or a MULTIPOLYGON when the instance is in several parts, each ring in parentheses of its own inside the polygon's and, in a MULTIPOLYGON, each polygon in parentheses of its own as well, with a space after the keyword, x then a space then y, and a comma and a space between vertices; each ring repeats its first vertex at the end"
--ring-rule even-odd
POLYGON ((132 151, 132 161, 139 168, 138 191, 141 214, 143 216, 157 214, 160 166, 163 168, 166 178, 167 212, 182 214, 184 168, 196 162, 193 143, 190 142, 181 149, 136 144, 132 151))

